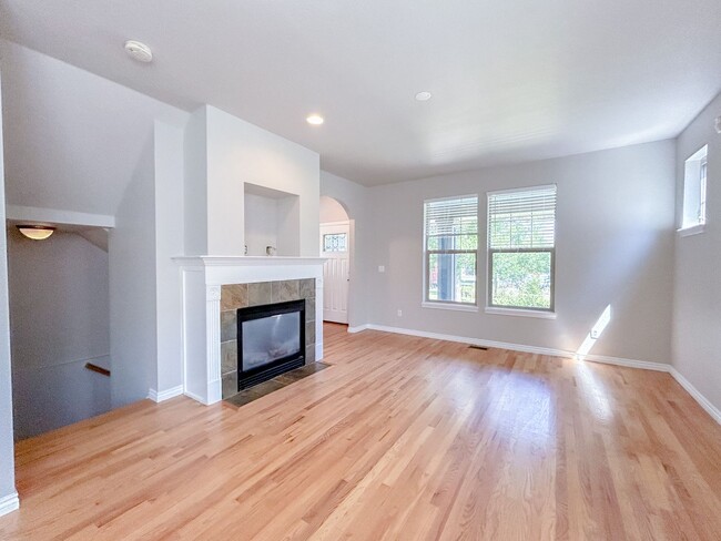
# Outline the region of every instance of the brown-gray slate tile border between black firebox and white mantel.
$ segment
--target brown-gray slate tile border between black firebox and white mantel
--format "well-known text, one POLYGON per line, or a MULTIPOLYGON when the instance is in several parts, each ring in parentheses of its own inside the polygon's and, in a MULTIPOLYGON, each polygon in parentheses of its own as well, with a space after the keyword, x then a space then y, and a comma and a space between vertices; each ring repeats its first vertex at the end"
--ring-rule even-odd
POLYGON ((305 364, 315 361, 315 278, 232 284, 221 287, 223 398, 237 392, 237 309, 305 299, 305 364))

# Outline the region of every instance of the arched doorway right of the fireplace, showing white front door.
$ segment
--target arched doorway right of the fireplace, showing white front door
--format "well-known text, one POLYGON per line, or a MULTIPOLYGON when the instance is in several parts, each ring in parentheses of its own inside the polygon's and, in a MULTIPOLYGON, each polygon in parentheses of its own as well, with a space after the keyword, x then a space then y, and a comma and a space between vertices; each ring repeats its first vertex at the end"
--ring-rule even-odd
POLYGON ((353 248, 355 245, 353 221, 345 207, 335 198, 321 197, 321 257, 323 269, 323 319, 348 324, 349 289, 353 287, 353 248))

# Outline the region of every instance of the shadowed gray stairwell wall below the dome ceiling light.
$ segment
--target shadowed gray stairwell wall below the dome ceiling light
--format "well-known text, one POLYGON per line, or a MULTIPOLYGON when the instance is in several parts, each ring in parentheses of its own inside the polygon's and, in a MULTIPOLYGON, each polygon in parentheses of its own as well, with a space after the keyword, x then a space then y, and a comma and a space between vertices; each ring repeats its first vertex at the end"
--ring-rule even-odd
POLYGON ((73 233, 8 231, 16 438, 110 409, 108 253, 73 233))

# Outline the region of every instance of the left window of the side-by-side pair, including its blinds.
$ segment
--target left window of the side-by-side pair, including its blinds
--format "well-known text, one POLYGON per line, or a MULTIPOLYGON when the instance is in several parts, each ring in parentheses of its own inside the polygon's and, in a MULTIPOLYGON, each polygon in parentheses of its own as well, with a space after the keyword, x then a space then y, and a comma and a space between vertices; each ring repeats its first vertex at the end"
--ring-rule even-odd
POLYGON ((424 211, 424 300, 475 305, 478 196, 426 201, 424 211))

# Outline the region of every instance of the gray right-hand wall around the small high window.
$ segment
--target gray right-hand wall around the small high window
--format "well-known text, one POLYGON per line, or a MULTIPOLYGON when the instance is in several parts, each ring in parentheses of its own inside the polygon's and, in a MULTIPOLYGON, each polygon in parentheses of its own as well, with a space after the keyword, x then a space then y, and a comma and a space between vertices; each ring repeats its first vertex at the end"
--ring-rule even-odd
POLYGON ((683 162, 704 144, 708 154, 707 225, 676 241, 673 365, 721 409, 721 115, 719 94, 677 140, 677 224, 683 204, 683 162))

